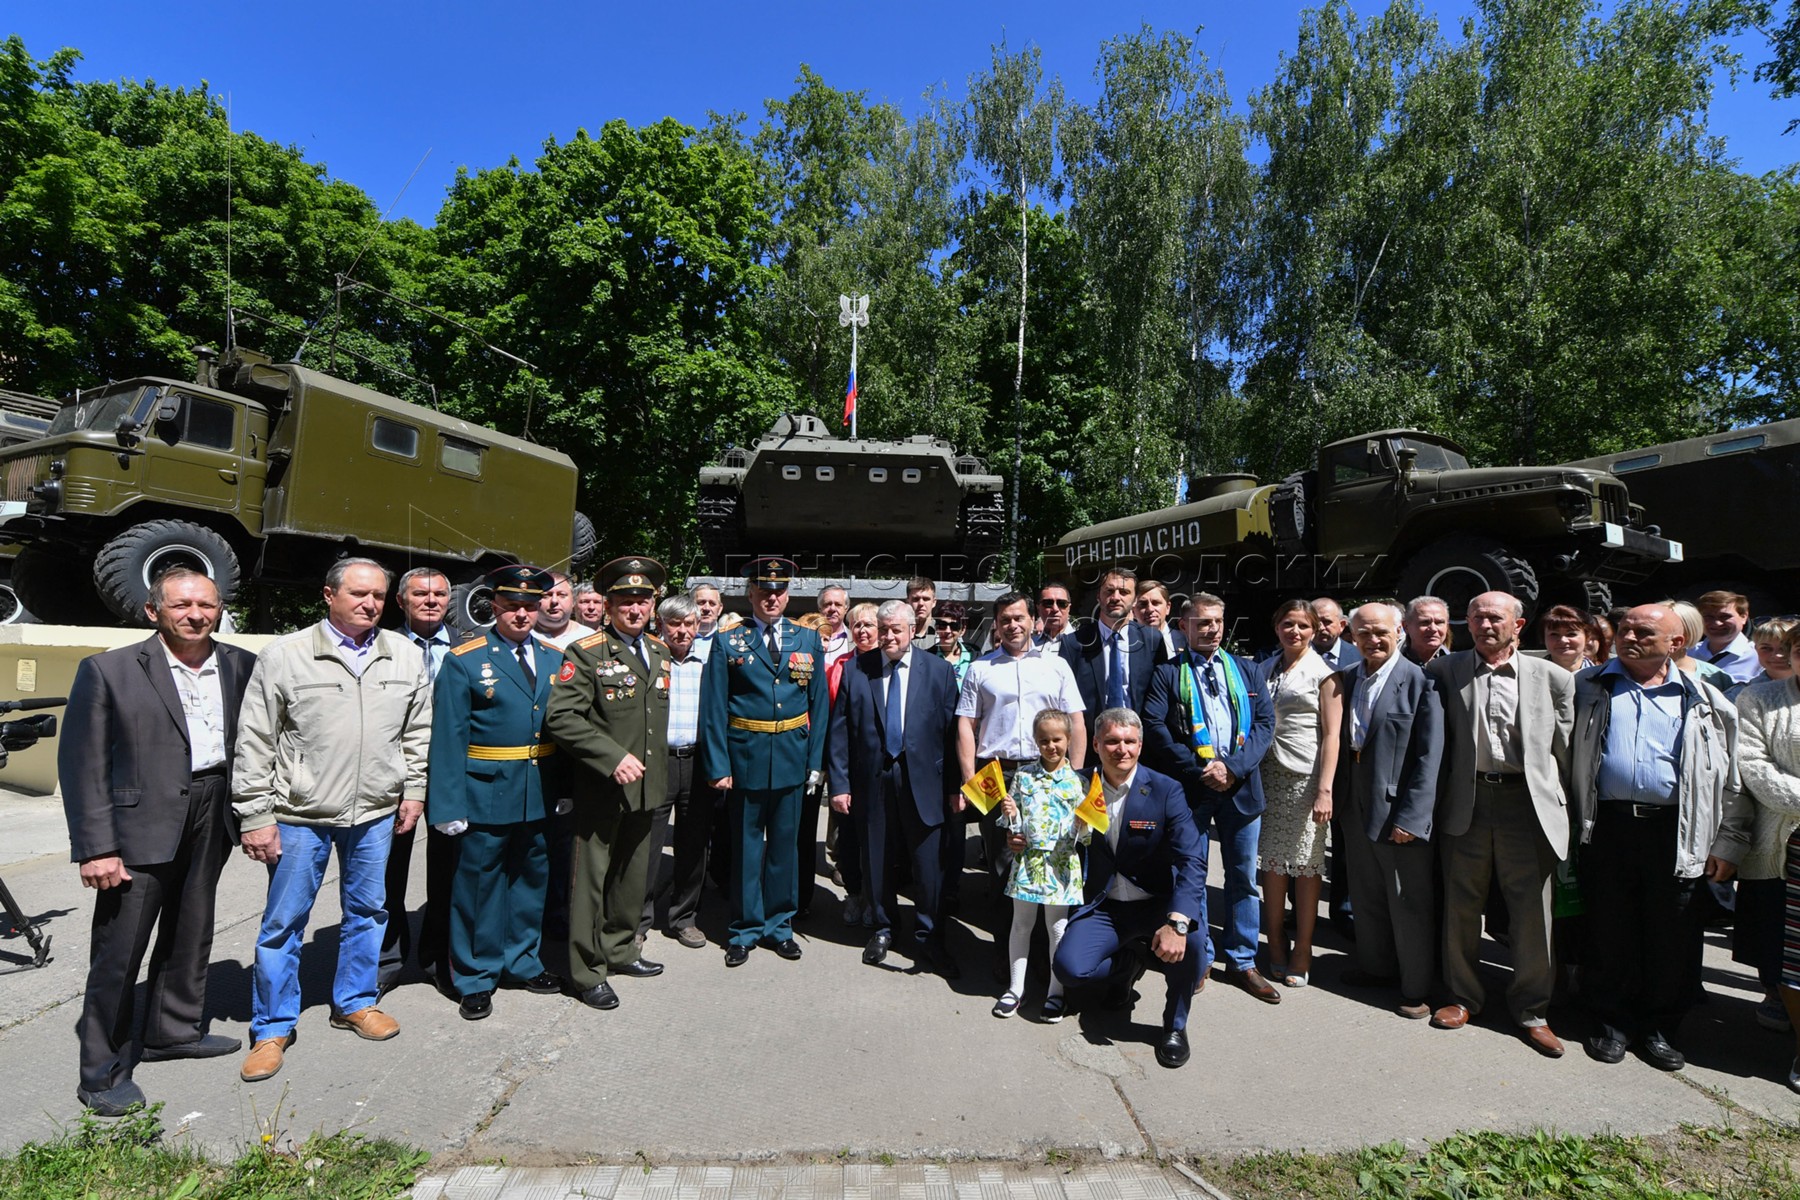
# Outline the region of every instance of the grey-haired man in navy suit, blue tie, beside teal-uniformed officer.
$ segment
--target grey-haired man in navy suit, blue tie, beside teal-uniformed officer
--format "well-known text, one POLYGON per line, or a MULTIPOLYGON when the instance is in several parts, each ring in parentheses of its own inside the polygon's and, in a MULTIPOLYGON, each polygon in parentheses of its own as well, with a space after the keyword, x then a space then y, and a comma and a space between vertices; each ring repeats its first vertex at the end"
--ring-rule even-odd
MULTIPOLYGON (((871 966, 893 945, 895 878, 889 847, 913 864, 913 961, 958 975, 943 945, 943 894, 958 837, 945 837, 959 788, 956 763, 956 667, 913 646, 913 610, 887 601, 877 612, 880 646, 857 655, 837 685, 828 736, 832 810, 848 813, 862 849, 862 878, 875 907, 875 936, 862 950, 871 966)), ((959 864, 956 864, 959 865, 959 864)))

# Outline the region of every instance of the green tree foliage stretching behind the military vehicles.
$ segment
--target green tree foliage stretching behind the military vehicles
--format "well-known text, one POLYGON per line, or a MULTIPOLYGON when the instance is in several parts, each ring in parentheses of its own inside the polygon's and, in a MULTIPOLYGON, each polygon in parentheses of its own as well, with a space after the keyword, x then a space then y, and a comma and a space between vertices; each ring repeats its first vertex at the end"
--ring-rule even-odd
MULTIPOLYGON (((1021 570, 1181 482, 1424 426, 1562 461, 1787 417, 1795 171, 1708 133, 1744 0, 1417 0, 1303 14, 1246 104, 1199 36, 1102 45, 1089 103, 1035 47, 961 97, 801 65, 706 128, 549 139, 383 221, 203 83, 85 83, 0 45, 0 383, 182 374, 238 335, 563 448, 603 549, 697 565, 695 475, 783 410, 936 434, 1017 497, 1021 570), (229 270, 227 270, 229 257, 229 270), (497 353, 504 351, 504 353, 497 353), (520 367, 517 360, 529 365, 520 367)), ((1795 88, 1795 18, 1759 77, 1795 88)))

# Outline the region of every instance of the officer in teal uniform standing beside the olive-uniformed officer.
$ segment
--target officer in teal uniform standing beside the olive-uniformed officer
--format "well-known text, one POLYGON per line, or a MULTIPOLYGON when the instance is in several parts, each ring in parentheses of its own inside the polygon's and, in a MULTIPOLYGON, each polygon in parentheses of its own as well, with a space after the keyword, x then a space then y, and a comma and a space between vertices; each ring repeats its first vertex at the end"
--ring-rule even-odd
POLYGON ((540 930, 549 882, 545 811, 565 795, 544 730, 562 651, 531 635, 551 585, 536 567, 500 567, 493 628, 445 655, 432 689, 427 819, 457 838, 450 883, 450 982, 466 1020, 493 1011, 497 984, 554 993, 540 930))

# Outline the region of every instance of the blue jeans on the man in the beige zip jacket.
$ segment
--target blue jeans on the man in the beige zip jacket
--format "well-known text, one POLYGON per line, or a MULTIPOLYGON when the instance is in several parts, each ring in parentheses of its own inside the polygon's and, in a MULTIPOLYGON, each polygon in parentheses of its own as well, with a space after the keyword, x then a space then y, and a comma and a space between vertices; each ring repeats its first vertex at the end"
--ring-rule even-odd
POLYGON ((283 1038, 301 1020, 301 945, 319 885, 338 853, 338 964, 331 1007, 358 1013, 376 1000, 382 934, 387 930, 387 849, 394 817, 360 826, 281 824, 281 858, 268 867, 268 903, 256 936, 250 1038, 283 1038))

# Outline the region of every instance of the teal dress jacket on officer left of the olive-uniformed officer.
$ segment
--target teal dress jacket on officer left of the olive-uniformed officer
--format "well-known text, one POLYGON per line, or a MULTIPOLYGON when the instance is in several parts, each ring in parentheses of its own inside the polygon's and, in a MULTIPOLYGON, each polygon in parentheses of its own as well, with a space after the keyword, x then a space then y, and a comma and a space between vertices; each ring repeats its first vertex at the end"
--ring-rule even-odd
POLYGON ((432 689, 430 824, 542 820, 556 795, 567 792, 554 754, 495 757, 481 750, 551 748, 544 712, 563 655, 533 637, 531 657, 536 685, 526 682, 513 642, 493 630, 445 655, 432 689))

